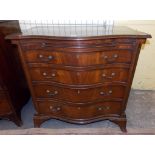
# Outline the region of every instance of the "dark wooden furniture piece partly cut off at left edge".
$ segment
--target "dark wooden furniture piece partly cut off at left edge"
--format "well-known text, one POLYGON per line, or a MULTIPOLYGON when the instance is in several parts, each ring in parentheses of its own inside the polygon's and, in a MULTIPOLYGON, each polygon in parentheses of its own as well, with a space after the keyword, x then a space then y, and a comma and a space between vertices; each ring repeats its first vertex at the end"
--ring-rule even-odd
POLYGON ((20 111, 30 94, 17 48, 4 39, 17 32, 21 32, 18 21, 0 21, 0 118, 20 126, 20 111))

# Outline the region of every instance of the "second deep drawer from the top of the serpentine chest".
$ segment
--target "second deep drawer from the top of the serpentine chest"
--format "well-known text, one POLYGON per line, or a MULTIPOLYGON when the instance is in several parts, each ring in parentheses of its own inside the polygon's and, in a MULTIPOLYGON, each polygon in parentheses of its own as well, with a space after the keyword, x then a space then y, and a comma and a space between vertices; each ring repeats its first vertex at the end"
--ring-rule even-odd
POLYGON ((113 67, 105 69, 55 69, 48 67, 29 68, 32 81, 54 81, 63 84, 95 84, 103 82, 127 82, 129 68, 113 67))

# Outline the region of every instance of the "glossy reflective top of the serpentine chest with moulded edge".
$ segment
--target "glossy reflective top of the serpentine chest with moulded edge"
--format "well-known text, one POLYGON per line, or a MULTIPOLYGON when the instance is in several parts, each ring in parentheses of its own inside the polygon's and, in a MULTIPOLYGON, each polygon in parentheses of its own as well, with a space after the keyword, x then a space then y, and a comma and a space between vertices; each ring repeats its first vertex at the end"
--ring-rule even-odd
POLYGON ((45 38, 58 40, 88 40, 104 38, 151 38, 151 35, 120 26, 38 26, 8 35, 6 39, 45 38))

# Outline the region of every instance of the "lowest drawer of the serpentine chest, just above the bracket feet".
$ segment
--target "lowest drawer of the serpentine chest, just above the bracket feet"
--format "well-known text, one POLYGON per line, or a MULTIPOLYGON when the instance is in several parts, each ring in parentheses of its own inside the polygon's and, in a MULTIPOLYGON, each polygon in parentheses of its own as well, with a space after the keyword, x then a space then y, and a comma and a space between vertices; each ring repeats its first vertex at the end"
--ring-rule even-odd
POLYGON ((86 119, 121 113, 121 102, 98 102, 91 105, 68 105, 55 101, 38 101, 40 114, 48 114, 73 119, 86 119))

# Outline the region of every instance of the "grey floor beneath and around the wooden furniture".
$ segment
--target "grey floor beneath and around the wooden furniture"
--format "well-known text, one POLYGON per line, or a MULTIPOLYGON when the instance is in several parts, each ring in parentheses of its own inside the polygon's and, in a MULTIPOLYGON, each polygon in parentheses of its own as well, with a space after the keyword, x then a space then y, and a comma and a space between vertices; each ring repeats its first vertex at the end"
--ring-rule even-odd
MULTIPOLYGON (((18 134, 18 131, 19 134, 121 134, 119 127, 110 121, 75 125, 51 119, 43 123, 41 128, 34 129, 34 113, 30 100, 22 109, 23 126, 17 127, 13 122, 0 120, 0 134, 18 134)), ((128 133, 155 134, 155 91, 132 90, 126 114, 128 133)))

